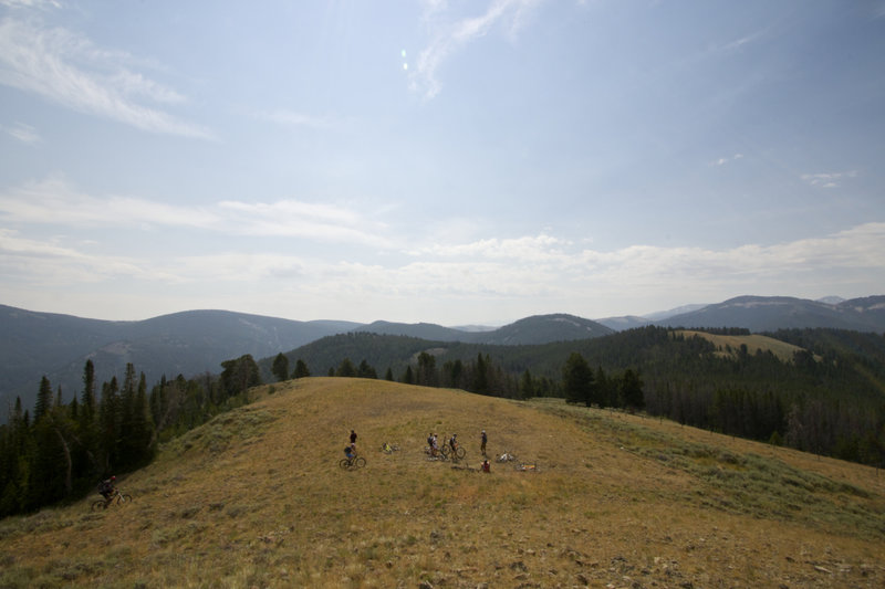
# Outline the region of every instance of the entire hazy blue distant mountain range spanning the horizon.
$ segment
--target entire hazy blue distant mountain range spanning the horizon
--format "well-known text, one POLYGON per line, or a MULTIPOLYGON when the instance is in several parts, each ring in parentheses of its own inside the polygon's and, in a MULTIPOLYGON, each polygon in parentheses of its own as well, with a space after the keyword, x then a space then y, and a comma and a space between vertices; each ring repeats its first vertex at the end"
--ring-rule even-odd
POLYGON ((226 311, 189 311, 140 322, 108 322, 37 313, 0 305, 0 422, 20 396, 30 409, 46 376, 70 399, 82 389, 83 367, 95 365, 98 382, 122 379, 127 362, 153 386, 165 375, 187 378, 219 372, 223 360, 257 360, 347 332, 404 335, 434 341, 525 345, 603 337, 643 325, 745 327, 752 332, 827 327, 885 332, 885 296, 827 303, 792 297, 741 296, 689 305, 649 317, 591 320, 555 314, 527 317, 498 328, 342 320, 296 322, 226 311))

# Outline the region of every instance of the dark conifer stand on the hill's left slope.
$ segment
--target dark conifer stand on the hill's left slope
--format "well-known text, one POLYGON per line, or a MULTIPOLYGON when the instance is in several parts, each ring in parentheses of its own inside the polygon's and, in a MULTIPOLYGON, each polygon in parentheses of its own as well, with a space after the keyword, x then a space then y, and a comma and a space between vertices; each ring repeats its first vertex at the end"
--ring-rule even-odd
POLYGON ((246 390, 261 382, 258 364, 246 355, 221 367, 217 376, 163 377, 148 391, 132 364, 122 381, 98 385, 86 360, 83 389, 69 402, 44 376, 33 412, 17 398, 0 425, 0 517, 77 499, 149 463, 160 442, 246 403, 246 390))

